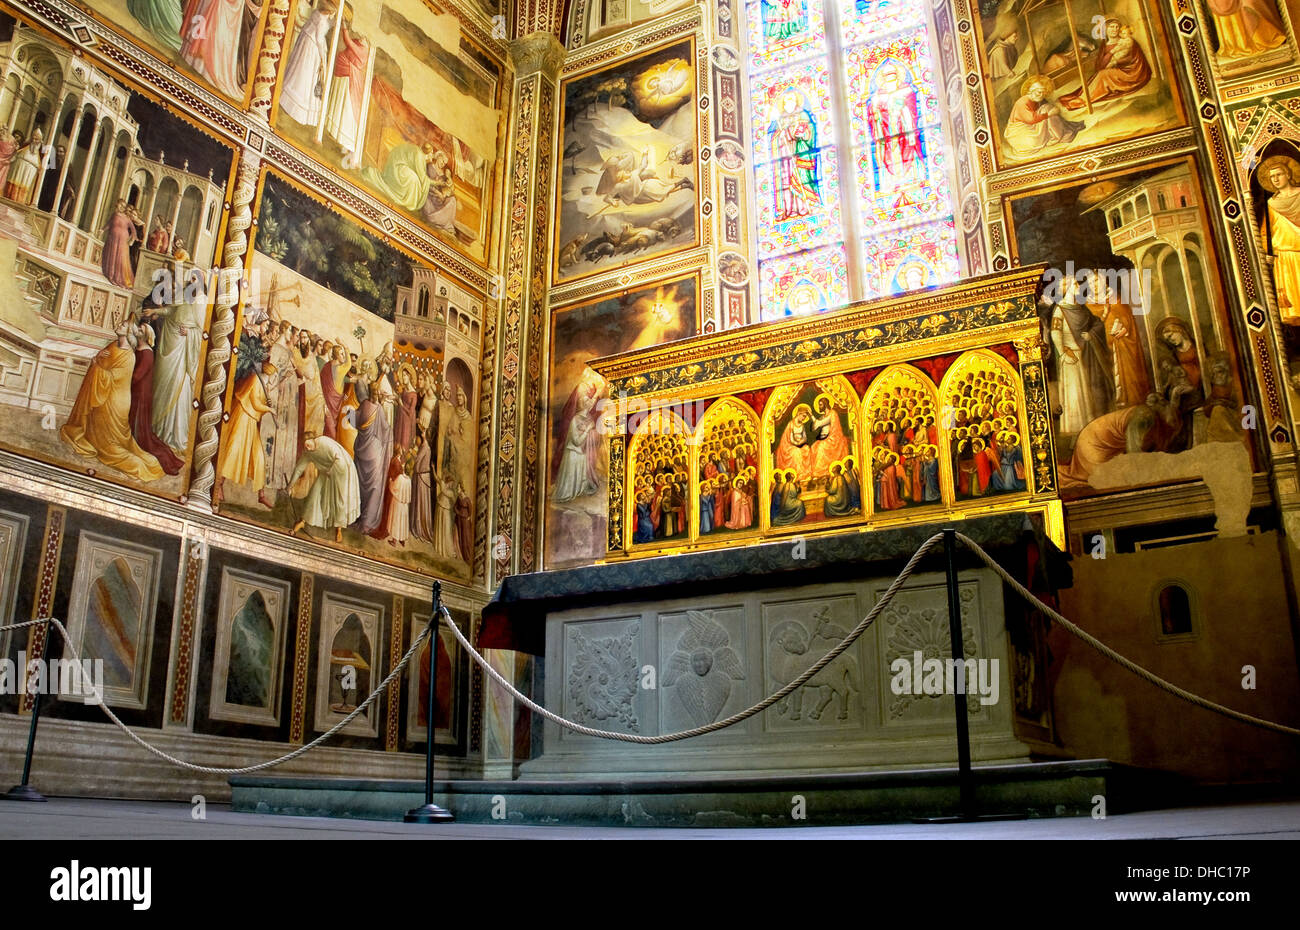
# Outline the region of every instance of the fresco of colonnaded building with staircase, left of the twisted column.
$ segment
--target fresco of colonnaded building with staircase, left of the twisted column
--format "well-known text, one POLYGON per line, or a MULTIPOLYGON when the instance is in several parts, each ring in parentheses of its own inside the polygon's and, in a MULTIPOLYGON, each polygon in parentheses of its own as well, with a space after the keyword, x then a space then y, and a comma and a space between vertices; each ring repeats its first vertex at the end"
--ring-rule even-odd
POLYGON ((0 18, 0 444, 179 496, 229 148, 0 18))

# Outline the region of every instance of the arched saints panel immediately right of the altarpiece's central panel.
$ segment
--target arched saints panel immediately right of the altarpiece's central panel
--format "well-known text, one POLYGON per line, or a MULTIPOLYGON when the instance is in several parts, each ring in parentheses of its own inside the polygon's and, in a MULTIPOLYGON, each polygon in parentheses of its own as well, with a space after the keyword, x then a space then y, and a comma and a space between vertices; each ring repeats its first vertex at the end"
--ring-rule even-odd
POLYGON ((885 368, 863 401, 872 512, 942 501, 939 392, 910 365, 885 368))

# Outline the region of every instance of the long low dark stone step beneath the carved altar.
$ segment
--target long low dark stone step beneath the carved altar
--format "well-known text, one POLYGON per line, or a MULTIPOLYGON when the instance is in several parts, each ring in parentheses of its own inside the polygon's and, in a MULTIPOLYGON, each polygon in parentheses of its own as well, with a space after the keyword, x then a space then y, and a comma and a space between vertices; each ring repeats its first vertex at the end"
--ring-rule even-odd
MULTIPOLYGON (((975 777, 982 813, 1028 817, 1175 806, 1184 788, 1178 777, 1106 760, 976 766, 975 777)), ((424 804, 424 782, 411 780, 237 775, 230 787, 234 810, 259 814, 400 821, 424 804)), ((462 823, 836 826, 956 814, 958 786, 957 769, 653 782, 455 780, 434 783, 434 803, 462 823)))

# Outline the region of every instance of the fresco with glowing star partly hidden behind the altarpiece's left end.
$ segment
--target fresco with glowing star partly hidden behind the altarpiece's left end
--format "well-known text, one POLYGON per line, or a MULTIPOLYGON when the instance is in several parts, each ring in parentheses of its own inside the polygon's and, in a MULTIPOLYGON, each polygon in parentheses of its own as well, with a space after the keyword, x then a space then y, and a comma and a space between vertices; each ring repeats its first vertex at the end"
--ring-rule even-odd
MULTIPOLYGON (((597 420, 608 385, 586 363, 694 336, 698 289, 697 278, 688 277, 555 312, 546 472, 549 567, 590 562, 606 545, 608 450, 597 420)), ((688 480, 684 463, 681 472, 679 483, 688 480)))

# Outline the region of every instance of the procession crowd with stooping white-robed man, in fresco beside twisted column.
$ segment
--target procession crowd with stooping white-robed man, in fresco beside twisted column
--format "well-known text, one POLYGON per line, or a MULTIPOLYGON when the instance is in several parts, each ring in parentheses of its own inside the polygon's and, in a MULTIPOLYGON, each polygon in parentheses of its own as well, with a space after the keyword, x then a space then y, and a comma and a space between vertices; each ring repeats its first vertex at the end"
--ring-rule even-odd
POLYGON ((256 490, 269 509, 287 494, 303 501, 294 532, 334 529, 342 541, 348 528, 402 548, 415 537, 469 562, 465 388, 428 359, 396 359, 391 343, 369 358, 294 325, 280 316, 276 289, 244 317, 216 499, 225 481, 256 490))

